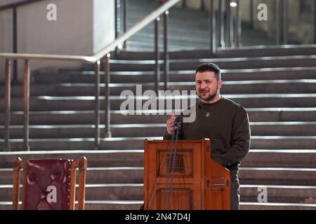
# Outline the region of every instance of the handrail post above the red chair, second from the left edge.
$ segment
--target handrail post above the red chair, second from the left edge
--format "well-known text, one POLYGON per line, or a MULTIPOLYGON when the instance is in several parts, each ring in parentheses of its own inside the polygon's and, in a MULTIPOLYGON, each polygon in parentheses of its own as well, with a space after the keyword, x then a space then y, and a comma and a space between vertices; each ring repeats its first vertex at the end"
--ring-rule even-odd
POLYGON ((24 63, 24 144, 23 149, 29 151, 29 60, 24 63))

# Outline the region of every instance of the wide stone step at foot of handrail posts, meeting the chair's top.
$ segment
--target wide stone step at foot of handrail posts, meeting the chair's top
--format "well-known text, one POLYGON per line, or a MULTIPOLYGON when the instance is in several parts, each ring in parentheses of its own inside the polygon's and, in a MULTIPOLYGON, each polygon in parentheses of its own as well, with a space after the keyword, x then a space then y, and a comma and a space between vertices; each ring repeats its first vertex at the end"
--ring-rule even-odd
MULTIPOLYGON (((0 151, 1 168, 11 169, 14 158, 27 159, 67 158, 88 159, 88 167, 143 167, 143 150, 108 151, 0 151), (124 160, 122 158, 129 158, 124 160)), ((242 160, 243 168, 316 168, 316 149, 251 149, 242 160)))

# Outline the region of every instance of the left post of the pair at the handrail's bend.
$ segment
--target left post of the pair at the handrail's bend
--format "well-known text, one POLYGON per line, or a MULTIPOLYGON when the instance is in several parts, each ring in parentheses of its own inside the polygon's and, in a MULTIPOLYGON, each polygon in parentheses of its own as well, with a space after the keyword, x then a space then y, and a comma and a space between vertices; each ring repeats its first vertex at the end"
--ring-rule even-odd
POLYGON ((100 146, 100 102, 99 102, 99 96, 100 96, 100 61, 97 61, 94 64, 95 69, 95 78, 94 78, 94 105, 95 105, 95 111, 94 111, 94 148, 98 149, 100 146))

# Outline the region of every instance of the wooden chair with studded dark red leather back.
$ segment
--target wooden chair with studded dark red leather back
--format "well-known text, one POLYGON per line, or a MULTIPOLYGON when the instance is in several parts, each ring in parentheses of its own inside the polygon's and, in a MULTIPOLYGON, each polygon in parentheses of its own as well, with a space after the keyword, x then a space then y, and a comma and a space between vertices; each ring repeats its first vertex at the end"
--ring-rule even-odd
POLYGON ((74 210, 76 169, 79 168, 78 209, 84 210, 87 160, 13 160, 13 210, 20 200, 22 169, 22 210, 74 210))

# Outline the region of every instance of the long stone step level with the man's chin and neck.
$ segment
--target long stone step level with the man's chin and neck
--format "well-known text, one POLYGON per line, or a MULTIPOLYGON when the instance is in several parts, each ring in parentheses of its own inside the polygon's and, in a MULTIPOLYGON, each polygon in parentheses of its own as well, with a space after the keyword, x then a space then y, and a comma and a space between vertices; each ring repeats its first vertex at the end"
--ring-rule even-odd
MULTIPOLYGON (((185 96, 185 95, 183 95, 185 96)), ((187 99, 187 104, 191 105, 195 102, 196 96, 190 96, 190 101, 187 99)), ((123 96, 124 97, 124 96, 123 96)), ((315 97, 316 94, 223 94, 223 97, 232 99, 238 104, 242 104, 245 108, 265 108, 265 107, 316 107, 315 97)), ((169 97, 167 99, 174 99, 169 97)), ((126 102, 127 97, 120 99, 118 96, 110 97, 110 109, 120 110, 121 104, 126 102)), ((156 98, 165 99, 162 98, 156 98)), ((100 97, 100 109, 104 109, 103 104, 104 97, 100 97)), ((136 97, 129 96, 129 100, 135 104, 136 97)), ((148 97, 138 98, 138 101, 142 100, 143 103, 148 101, 148 97)), ((178 98, 180 101, 180 98, 178 98)), ((4 99, 0 99, 0 104, 4 105, 4 99)), ((29 109, 30 111, 87 111, 94 109, 94 97, 30 97, 29 109)), ((157 103, 159 105, 159 103, 157 103)), ((141 104, 143 107, 143 104, 141 104)), ((146 109, 146 108, 145 108, 146 109)), ((161 109, 161 108, 159 108, 161 109)), ((166 108, 162 108, 166 109, 166 108)), ((13 98, 11 99, 11 111, 22 111, 23 99, 13 98)), ((0 111, 4 111, 4 107, 0 108, 0 111)))

